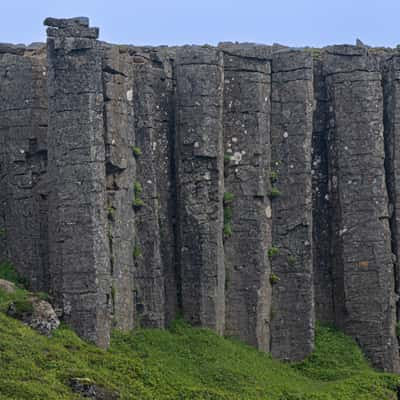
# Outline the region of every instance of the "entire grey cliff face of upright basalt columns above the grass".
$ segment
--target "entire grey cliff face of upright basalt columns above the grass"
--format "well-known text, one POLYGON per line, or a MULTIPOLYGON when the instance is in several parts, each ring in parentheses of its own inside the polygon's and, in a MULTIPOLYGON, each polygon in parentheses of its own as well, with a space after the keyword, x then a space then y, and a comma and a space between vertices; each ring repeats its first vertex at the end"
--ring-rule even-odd
POLYGON ((45 23, 0 44, 0 261, 100 346, 182 312, 301 360, 320 320, 400 372, 397 50, 45 23))

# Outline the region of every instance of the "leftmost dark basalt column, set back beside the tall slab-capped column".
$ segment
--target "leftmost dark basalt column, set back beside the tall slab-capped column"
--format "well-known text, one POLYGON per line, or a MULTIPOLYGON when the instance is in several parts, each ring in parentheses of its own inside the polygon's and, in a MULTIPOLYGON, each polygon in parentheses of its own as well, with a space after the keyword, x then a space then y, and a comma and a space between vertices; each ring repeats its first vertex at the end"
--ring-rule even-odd
POLYGON ((0 262, 48 290, 44 45, 0 44, 0 262))

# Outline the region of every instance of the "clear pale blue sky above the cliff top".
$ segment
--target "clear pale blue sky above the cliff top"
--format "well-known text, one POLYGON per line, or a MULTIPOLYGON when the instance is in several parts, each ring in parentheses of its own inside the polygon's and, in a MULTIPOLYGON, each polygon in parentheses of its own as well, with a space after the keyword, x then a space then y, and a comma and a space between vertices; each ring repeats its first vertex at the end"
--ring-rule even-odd
POLYGON ((121 44, 400 43, 400 0, 0 0, 0 42, 45 41, 48 16, 88 16, 121 44))

